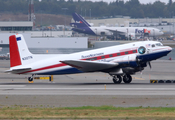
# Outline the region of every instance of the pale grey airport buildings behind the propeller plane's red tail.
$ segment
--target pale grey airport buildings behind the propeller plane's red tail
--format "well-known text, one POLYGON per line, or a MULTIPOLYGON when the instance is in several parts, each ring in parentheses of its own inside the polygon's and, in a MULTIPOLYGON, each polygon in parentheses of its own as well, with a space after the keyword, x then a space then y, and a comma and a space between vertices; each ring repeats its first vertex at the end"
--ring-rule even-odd
POLYGON ((23 34, 33 53, 70 53, 87 49, 87 37, 71 37, 72 31, 33 31, 31 21, 0 22, 0 54, 9 52, 9 36, 23 34))

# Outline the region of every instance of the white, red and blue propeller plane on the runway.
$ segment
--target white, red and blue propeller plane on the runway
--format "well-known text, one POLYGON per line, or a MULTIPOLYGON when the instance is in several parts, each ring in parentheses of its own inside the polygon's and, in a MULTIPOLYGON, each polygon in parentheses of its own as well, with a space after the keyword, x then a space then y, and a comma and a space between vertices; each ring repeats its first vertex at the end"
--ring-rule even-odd
POLYGON ((130 83, 131 75, 144 70, 150 61, 166 56, 172 48, 158 41, 140 41, 71 54, 32 54, 22 34, 9 37, 12 74, 63 75, 104 72, 115 84, 130 83))

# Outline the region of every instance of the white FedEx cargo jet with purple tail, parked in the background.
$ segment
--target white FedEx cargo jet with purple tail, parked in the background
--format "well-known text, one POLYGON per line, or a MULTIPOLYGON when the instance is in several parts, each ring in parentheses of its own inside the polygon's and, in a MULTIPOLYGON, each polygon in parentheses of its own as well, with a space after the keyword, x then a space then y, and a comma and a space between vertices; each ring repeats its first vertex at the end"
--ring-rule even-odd
POLYGON ((124 36, 126 38, 136 36, 155 37, 164 33, 151 27, 92 27, 81 15, 73 13, 74 23, 70 23, 72 30, 78 33, 84 33, 94 36, 124 36))

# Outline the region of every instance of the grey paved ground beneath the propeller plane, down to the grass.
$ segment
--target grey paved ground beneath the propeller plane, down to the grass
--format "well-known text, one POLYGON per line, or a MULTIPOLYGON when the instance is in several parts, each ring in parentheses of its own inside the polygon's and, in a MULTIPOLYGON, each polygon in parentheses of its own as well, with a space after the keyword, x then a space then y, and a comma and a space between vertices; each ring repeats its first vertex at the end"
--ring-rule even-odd
POLYGON ((30 75, 4 73, 9 60, 0 61, 0 106, 101 106, 175 107, 175 83, 151 84, 150 79, 175 80, 175 61, 156 60, 133 75, 131 84, 114 84, 104 73, 54 76, 54 81, 34 80, 30 75))

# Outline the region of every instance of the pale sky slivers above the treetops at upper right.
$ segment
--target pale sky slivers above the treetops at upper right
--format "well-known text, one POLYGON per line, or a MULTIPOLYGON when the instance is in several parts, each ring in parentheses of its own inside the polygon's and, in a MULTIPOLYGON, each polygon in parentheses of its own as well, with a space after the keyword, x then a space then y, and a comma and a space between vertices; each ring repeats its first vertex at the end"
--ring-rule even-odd
MULTIPOLYGON (((90 0, 90 1, 103 1, 103 2, 113 2, 113 1, 116 1, 116 0, 90 0)), ((129 1, 129 0, 124 0, 125 2, 126 1, 129 1)), ((168 3, 169 0, 139 0, 141 4, 147 4, 147 3, 154 3, 155 1, 161 1, 161 2, 164 2, 164 3, 168 3)), ((173 2, 175 2, 175 0, 173 0, 173 2)))

